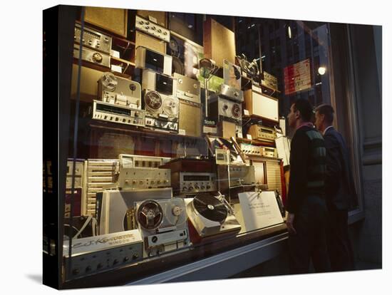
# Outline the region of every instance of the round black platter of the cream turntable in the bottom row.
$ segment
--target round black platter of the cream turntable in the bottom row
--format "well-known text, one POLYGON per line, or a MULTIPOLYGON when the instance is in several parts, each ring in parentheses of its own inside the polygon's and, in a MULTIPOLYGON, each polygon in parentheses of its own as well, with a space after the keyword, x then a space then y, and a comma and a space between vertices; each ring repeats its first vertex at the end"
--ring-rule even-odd
POLYGON ((227 207, 210 194, 200 194, 193 200, 193 207, 203 217, 223 223, 227 218, 227 207))

